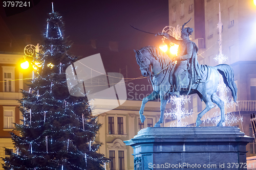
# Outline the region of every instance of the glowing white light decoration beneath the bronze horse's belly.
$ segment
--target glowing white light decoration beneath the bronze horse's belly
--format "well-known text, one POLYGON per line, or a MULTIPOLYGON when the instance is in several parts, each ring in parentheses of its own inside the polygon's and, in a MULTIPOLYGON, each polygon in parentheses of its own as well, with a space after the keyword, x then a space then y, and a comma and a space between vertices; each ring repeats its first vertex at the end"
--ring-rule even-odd
POLYGON ((190 96, 186 95, 180 95, 179 98, 177 96, 170 96, 170 99, 168 100, 169 103, 172 103, 173 105, 176 105, 174 109, 170 109, 170 112, 165 113, 165 117, 172 117, 173 119, 177 119, 174 123, 171 123, 169 127, 188 127, 188 124, 182 119, 185 117, 188 117, 193 112, 192 110, 188 112, 188 110, 185 110, 182 105, 184 105, 187 102, 190 102, 190 96))

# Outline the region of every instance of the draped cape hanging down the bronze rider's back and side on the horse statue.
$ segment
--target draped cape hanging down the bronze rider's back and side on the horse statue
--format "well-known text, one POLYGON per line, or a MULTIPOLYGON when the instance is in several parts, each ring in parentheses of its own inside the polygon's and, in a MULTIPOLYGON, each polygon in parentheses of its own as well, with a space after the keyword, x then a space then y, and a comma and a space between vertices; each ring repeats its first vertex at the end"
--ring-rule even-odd
POLYGON ((210 76, 210 69, 208 65, 200 65, 197 60, 197 52, 198 47, 193 42, 194 48, 193 48, 193 54, 191 57, 191 61, 189 62, 189 72, 190 72, 190 80, 191 84, 195 83, 202 83, 205 82, 208 77, 210 76))

